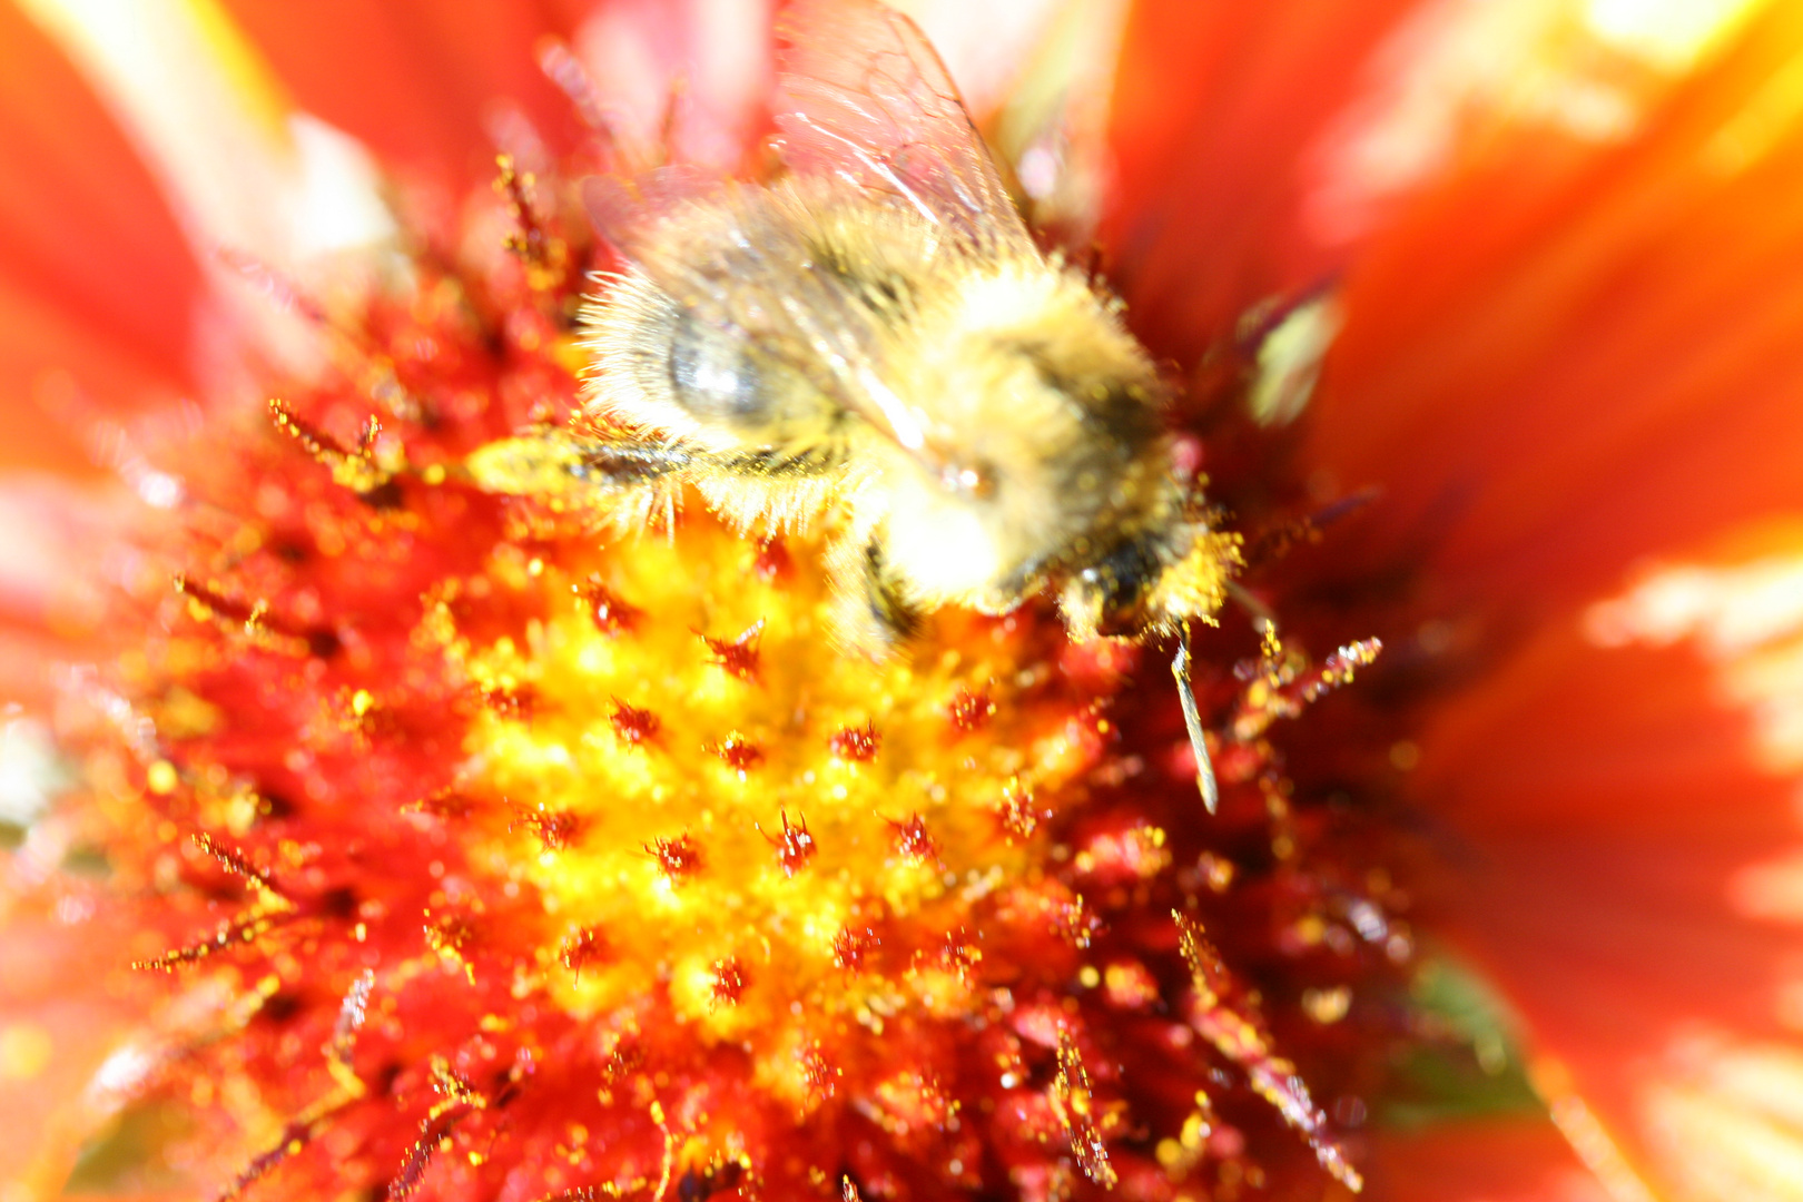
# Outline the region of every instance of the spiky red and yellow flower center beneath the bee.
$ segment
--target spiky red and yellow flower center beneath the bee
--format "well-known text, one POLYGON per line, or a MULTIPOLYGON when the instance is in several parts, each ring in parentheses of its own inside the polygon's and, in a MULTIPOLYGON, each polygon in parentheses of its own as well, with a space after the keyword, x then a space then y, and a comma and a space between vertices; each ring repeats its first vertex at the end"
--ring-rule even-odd
POLYGON ((575 405, 595 254, 503 196, 512 256, 418 234, 406 290, 323 319, 332 371, 180 449, 83 694, 132 955, 180 982, 141 1090, 198 1121, 197 1177, 1356 1188, 1327 1099, 1363 1114, 1408 935, 1271 732, 1374 649, 1199 652, 1208 816, 1168 672, 1048 598, 873 661, 829 633, 829 530, 483 492, 474 456, 575 405))

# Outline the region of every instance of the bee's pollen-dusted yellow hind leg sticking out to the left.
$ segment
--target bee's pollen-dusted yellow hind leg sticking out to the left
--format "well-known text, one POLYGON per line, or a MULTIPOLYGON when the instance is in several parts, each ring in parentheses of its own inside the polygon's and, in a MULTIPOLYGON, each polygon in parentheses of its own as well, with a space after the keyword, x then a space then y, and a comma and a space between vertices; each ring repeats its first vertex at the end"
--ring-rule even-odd
POLYGON ((485 492, 514 497, 561 497, 622 492, 680 472, 694 456, 673 443, 579 438, 566 431, 501 438, 463 461, 469 479, 485 492))

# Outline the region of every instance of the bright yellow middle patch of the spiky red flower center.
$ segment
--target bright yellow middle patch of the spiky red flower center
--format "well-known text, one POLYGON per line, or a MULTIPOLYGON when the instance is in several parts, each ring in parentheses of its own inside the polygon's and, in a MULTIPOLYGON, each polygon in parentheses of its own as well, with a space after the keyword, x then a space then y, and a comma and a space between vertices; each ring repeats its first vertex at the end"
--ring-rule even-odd
POLYGON ((691 506, 568 546, 505 544, 478 586, 546 602, 523 642, 465 634, 467 587, 427 620, 489 701, 465 788, 514 822, 476 861, 563 924, 554 997, 629 1031, 664 993, 802 1105, 829 1092, 822 1045, 968 1013, 972 906, 1046 863, 1046 807, 1080 798, 1107 730, 1071 708, 1057 624, 939 615, 873 663, 833 645, 813 544, 691 506))

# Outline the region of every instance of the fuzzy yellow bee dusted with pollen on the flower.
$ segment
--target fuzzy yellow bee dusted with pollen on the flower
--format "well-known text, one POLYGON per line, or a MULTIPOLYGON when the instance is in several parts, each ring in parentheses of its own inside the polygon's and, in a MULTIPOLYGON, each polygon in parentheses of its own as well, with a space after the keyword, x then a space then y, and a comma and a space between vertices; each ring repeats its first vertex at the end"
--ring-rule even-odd
MULTIPOLYGON (((745 530, 831 514, 837 625, 876 654, 1042 589, 1078 640, 1208 620, 1231 542, 1177 478, 1158 369, 1033 241, 920 29, 802 0, 779 65, 783 178, 586 184, 627 267, 586 308, 584 396, 629 436, 503 440, 476 481, 683 483, 745 530)), ((1174 669, 1213 809, 1181 640, 1174 669)))

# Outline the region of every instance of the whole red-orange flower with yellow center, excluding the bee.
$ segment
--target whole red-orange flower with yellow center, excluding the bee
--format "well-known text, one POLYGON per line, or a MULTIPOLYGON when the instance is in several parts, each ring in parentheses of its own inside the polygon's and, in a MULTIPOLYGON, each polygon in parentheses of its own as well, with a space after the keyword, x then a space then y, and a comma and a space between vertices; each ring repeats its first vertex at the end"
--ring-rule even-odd
MULTIPOLYGON (((480 81, 431 115, 382 18, 348 9, 344 56, 238 9, 393 164, 375 204, 357 144, 270 135, 288 103, 222 11, 146 5, 186 68, 146 74, 34 5, 191 241, 240 250, 197 269, 7 14, 5 77, 139 198, 52 207, 63 175, 14 173, 0 260, 32 299, 9 362, 65 368, 40 396, 142 503, 9 496, 45 532, 5 557, 9 661, 94 665, 54 701, 14 669, 81 780, 9 863, 0 1070, 58 1099, 13 1161, 32 1188, 87 1139, 114 1189, 245 1195, 1334 1197, 1368 1170, 1377 1197, 1794 1197, 1803 27, 1103 7, 1022 5, 988 36, 1033 67, 966 90, 1006 101, 1048 227, 1100 218, 1246 535, 1242 604, 1277 616, 1195 643, 1213 820, 1145 649, 1028 607, 847 661, 804 535, 691 506, 602 537, 458 478, 573 404, 573 117, 656 146, 689 58, 669 141, 755 169, 743 43, 654 5, 550 49, 422 16, 480 81), (1102 114, 1057 81, 1100 88, 1114 38, 1102 114), (471 96, 514 101, 498 191, 471 96), (184 393, 209 407, 171 422, 184 393)), ((974 22, 954 70, 993 45, 974 22)), ((47 730, 7 728, 27 802, 47 730)))

